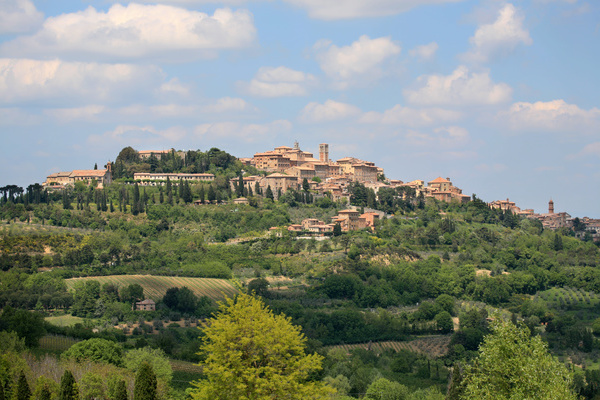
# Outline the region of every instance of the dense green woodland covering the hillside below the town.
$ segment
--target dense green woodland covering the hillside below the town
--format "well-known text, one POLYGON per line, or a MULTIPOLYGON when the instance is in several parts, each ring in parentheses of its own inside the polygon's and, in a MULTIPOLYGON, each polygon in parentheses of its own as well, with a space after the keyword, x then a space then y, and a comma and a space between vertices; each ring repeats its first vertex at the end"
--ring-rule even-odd
POLYGON ((114 376, 124 376, 133 393, 145 360, 159 371, 160 398, 189 396, 189 381, 203 375, 174 373, 168 361, 203 360, 196 325, 214 315, 214 301, 174 287, 157 299, 156 311, 139 312, 131 307, 144 298, 139 285, 82 280, 68 290, 66 284, 73 277, 152 274, 229 279, 291 318, 307 352, 323 356, 323 368, 310 380, 337 389, 332 398, 383 398, 373 397, 379 387, 373 385, 400 393, 389 398, 463 398, 451 377, 473 362, 498 318, 546 343, 569 366, 579 395, 600 395, 600 249, 571 230, 545 230, 492 210, 475 195, 468 204, 448 204, 410 190, 382 189, 375 196, 354 184, 353 205, 389 217, 374 232, 316 240, 285 227, 304 218, 328 220, 346 205, 308 190, 273 200, 232 189, 229 179, 256 171, 218 149, 142 162, 125 148, 114 173, 115 183, 104 189, 79 183, 52 193, 37 184, 0 188, 0 386, 7 394, 17 390, 21 371, 34 397, 46 386, 58 393, 69 370, 88 382, 80 383, 82 398, 113 399, 120 385, 114 376), (216 179, 159 187, 130 180, 145 171, 211 172, 216 179), (228 202, 238 196, 251 198, 250 205, 228 202), (282 229, 269 233, 271 227, 282 229), (61 315, 78 322, 44 320, 61 315), (48 350, 40 345, 48 335, 79 344, 48 350), (423 338, 439 339, 443 349, 372 350, 380 342, 423 338), (363 346, 344 350, 351 344, 363 346), (36 389, 40 380, 45 383, 36 389))

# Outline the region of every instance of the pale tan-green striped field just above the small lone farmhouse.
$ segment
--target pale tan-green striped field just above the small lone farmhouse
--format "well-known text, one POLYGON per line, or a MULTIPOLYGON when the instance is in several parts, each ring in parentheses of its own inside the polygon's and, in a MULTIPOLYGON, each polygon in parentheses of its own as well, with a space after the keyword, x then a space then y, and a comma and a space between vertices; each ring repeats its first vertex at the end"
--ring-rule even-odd
POLYGON ((109 275, 109 276, 90 276, 85 278, 67 279, 67 287, 73 288, 73 285, 81 280, 96 280, 101 285, 105 283, 114 283, 119 287, 128 286, 134 283, 144 288, 144 296, 154 301, 163 298, 167 289, 172 287, 186 286, 194 292, 196 296, 207 296, 213 300, 221 300, 237 293, 237 289, 226 279, 211 278, 180 278, 175 276, 154 276, 154 275, 109 275))

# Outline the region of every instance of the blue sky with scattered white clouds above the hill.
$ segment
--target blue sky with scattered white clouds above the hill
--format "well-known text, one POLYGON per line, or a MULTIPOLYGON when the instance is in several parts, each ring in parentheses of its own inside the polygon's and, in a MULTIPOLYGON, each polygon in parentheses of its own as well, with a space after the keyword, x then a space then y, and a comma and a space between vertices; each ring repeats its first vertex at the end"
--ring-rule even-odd
POLYGON ((600 218, 596 0, 0 0, 0 186, 274 147, 600 218))

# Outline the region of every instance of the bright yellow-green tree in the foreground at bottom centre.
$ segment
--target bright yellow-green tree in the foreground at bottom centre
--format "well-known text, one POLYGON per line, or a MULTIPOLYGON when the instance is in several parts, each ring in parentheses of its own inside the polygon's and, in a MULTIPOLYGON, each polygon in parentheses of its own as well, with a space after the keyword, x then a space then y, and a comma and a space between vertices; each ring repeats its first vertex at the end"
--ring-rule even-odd
POLYGON ((309 379, 321 369, 322 357, 305 354, 301 328, 260 299, 227 299, 203 330, 207 379, 194 383, 193 399, 329 398, 330 388, 309 379))

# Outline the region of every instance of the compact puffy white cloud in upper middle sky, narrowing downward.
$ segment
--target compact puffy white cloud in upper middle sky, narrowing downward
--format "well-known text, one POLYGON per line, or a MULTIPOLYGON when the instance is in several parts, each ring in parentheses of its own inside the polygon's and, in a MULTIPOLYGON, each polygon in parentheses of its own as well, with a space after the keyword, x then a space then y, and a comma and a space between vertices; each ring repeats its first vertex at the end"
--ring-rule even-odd
POLYGON ((400 46, 389 37, 370 39, 363 35, 349 46, 337 47, 321 41, 315 45, 321 69, 345 88, 353 81, 377 79, 381 65, 400 54, 400 46))

